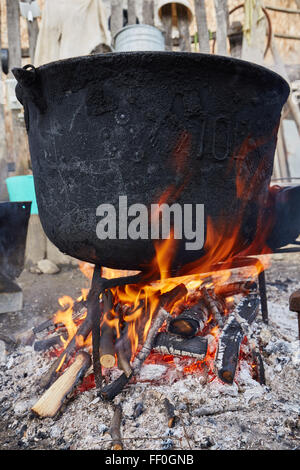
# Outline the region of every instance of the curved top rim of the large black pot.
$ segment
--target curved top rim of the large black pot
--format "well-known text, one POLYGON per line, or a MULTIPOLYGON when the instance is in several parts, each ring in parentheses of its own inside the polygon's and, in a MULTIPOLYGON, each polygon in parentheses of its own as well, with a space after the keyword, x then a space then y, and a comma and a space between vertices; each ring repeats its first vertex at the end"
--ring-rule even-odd
MULTIPOLYGON (((287 80, 277 72, 264 67, 262 65, 255 64, 253 62, 249 62, 242 59, 237 59, 231 56, 222 56, 218 54, 204 54, 200 52, 175 52, 175 51, 133 51, 133 52, 108 52, 106 54, 91 54, 91 55, 84 55, 84 56, 77 56, 77 57, 70 57, 68 59, 60 59, 53 62, 49 62, 47 64, 43 64, 36 68, 38 72, 47 72, 53 68, 58 67, 61 69, 64 66, 72 66, 77 65, 80 62, 93 62, 103 60, 103 63, 106 61, 111 61, 113 57, 118 58, 119 60, 124 58, 124 60, 128 61, 132 58, 135 62, 138 57, 140 58, 151 58, 151 59, 160 59, 163 58, 167 60, 174 60, 176 61, 178 58, 185 58, 190 59, 191 62, 199 64, 203 66, 205 63, 216 63, 221 67, 221 65, 226 66, 226 71, 228 71, 228 67, 232 65, 233 67, 239 67, 239 72, 246 72, 247 75, 253 75, 253 77, 257 77, 258 79, 268 75, 268 79, 270 80, 269 87, 272 87, 272 79, 274 82, 280 82, 282 86, 286 88, 287 95, 290 92, 290 86, 287 80)), ((120 63, 118 61, 118 63, 120 63)), ((135 65, 137 65, 135 63, 135 65)))

